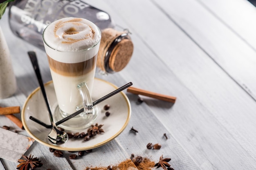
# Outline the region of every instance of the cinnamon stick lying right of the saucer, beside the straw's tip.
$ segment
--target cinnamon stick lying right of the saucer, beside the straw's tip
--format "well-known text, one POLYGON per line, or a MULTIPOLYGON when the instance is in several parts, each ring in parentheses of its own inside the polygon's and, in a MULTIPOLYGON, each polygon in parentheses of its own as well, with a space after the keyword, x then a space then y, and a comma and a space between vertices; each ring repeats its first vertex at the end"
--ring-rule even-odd
POLYGON ((155 93, 155 92, 150 92, 150 91, 147 91, 147 90, 144 90, 144 89, 138 89, 138 88, 135 88, 135 87, 128 87, 127 92, 130 92, 130 93, 133 93, 133 94, 140 94, 140 95, 148 96, 148 97, 152 97, 152 98, 157 98, 159 100, 164 100, 164 101, 172 102, 172 103, 175 103, 175 101, 176 101, 176 97, 167 96, 167 95, 164 95, 164 94, 158 94, 158 93, 155 93))

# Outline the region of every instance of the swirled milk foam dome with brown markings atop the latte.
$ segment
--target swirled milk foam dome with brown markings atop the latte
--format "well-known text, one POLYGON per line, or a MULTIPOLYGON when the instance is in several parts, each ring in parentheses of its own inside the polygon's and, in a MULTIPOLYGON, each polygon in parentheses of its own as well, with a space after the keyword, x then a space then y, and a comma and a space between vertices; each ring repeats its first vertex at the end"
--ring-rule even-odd
POLYGON ((49 24, 43 34, 45 43, 58 51, 81 51, 101 39, 99 28, 83 18, 63 18, 49 24))

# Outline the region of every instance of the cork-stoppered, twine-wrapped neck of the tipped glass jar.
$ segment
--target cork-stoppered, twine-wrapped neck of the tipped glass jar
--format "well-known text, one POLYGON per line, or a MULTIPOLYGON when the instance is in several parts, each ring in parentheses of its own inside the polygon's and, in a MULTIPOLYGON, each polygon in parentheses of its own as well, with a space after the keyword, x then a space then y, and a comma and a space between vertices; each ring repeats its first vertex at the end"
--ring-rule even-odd
POLYGON ((101 31, 101 44, 97 67, 103 72, 119 72, 126 67, 132 57, 133 44, 128 31, 107 28, 101 31))

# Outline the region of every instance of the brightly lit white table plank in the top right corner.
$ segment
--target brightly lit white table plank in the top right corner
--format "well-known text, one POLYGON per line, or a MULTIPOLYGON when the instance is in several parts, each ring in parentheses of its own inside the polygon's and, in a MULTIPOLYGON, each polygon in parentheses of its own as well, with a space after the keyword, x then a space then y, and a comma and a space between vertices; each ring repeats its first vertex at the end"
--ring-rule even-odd
POLYGON ((248 0, 197 0, 220 22, 256 49, 256 10, 248 0))

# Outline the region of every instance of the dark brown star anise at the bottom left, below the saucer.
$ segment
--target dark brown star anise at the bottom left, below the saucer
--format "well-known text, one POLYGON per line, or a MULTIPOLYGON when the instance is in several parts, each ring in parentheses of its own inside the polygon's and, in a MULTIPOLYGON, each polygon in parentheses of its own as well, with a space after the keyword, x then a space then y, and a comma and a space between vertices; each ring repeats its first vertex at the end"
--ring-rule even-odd
POLYGON ((34 170, 34 168, 39 168, 41 166, 43 166, 43 163, 41 163, 41 161, 39 161, 38 158, 33 158, 34 155, 32 155, 31 157, 31 154, 29 155, 29 157, 25 156, 25 155, 22 155, 22 158, 25 159, 19 159, 18 162, 20 163, 18 166, 17 166, 17 169, 18 170, 29 170, 30 168, 32 170, 34 170))

